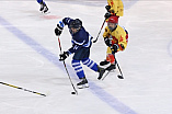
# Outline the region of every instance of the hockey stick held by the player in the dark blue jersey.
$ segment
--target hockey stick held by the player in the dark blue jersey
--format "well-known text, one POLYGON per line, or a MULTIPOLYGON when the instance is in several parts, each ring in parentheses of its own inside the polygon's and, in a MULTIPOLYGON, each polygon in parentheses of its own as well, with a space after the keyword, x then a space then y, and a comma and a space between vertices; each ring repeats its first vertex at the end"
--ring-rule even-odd
MULTIPOLYGON (((60 38, 59 38, 59 36, 58 36, 58 44, 59 44, 60 53, 62 54, 62 49, 61 49, 61 44, 60 44, 60 38)), ((70 78, 70 76, 69 76, 69 72, 68 72, 68 69, 67 69, 67 67, 66 67, 65 60, 64 60, 64 66, 65 66, 65 69, 66 69, 66 71, 67 71, 67 75, 68 75, 68 77, 69 77, 70 83, 71 83, 71 86, 72 86, 72 88, 73 88, 73 90, 74 90, 74 92, 71 92, 71 94, 76 94, 76 93, 77 93, 77 95, 78 95, 78 91, 76 90, 76 88, 74 88, 74 86, 73 86, 73 83, 72 83, 72 81, 71 81, 71 78, 70 78)))

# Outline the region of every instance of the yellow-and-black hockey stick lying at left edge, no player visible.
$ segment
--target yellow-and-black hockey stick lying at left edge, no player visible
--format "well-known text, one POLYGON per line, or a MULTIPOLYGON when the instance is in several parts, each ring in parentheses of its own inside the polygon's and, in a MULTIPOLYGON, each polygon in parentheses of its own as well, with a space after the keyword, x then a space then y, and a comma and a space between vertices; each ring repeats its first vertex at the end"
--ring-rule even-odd
POLYGON ((24 90, 24 91, 27 91, 27 92, 31 92, 31 93, 34 93, 34 94, 38 94, 38 95, 46 96, 46 94, 43 94, 43 93, 39 93, 39 92, 35 92, 35 91, 31 91, 31 90, 27 90, 27 89, 24 89, 24 88, 21 88, 21 87, 8 84, 8 83, 5 83, 5 82, 0 82, 0 83, 1 83, 1 84, 4 84, 4 86, 12 87, 12 88, 15 88, 15 89, 24 90))

